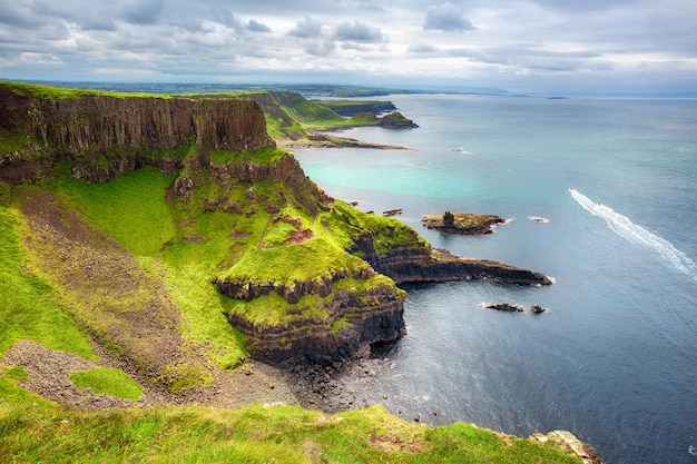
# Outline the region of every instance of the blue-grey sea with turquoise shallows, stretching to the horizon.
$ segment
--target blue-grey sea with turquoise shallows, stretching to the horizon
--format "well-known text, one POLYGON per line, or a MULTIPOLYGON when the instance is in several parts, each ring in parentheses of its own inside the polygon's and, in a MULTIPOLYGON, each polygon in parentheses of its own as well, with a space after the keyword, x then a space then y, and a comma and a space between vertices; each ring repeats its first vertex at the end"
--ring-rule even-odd
POLYGON ((360 209, 402 208, 434 247, 556 283, 406 286, 409 333, 360 395, 431 424, 568 430, 608 463, 697 463, 697 101, 390 99, 420 128, 343 135, 411 150, 296 150, 306 174, 360 209), (421 226, 445 210, 511 220, 421 226))

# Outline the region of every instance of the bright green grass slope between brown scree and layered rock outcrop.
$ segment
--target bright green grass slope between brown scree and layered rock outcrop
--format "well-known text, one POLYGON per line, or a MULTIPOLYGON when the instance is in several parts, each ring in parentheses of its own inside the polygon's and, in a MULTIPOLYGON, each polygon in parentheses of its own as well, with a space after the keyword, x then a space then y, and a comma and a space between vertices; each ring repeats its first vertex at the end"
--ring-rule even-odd
MULTIPOLYGON (((229 253, 234 217, 199 211, 194 218, 198 226, 194 233, 206 234, 210 239, 181 240, 175 224, 177 216, 166 201, 166 189, 173 179, 146 167, 102 184, 60 177, 51 189, 68 199, 90 224, 138 256, 143 272, 155 278, 164 275, 169 295, 181 312, 181 335, 193 343, 210 343, 208 359, 222 368, 234 368, 247 356, 245 339, 225 319, 224 300, 209 283, 212 269, 229 253)), ((185 372, 176 368, 171 373, 185 372)), ((203 378, 186 374, 187 378, 203 378)))

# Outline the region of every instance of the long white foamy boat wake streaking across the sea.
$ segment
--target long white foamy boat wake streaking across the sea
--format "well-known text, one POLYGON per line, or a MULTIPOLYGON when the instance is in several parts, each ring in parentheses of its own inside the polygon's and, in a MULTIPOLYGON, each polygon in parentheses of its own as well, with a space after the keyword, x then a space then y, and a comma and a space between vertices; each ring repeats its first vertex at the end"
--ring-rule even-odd
POLYGON ((615 234, 647 248, 658 251, 660 256, 668 260, 676 269, 697 280, 697 264, 686 254, 673 246, 673 244, 657 235, 651 234, 641 226, 634 224, 628 217, 615 213, 602 204, 593 203, 587 196, 572 188, 569 189, 573 199, 593 216, 601 217, 608 223, 615 234))

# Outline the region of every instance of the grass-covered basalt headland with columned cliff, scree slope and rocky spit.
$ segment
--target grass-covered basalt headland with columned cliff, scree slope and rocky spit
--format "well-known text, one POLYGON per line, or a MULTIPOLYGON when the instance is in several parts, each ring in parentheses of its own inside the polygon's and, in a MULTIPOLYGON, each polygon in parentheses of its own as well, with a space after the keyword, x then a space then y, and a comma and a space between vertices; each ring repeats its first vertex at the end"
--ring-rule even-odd
POLYGON ((328 198, 253 100, 8 83, 0 107, 0 200, 23 217, 18 245, 91 336, 167 387, 246 353, 330 364, 395 340, 395 284, 550 283, 328 198), (233 333, 206 339, 229 330, 222 318, 233 333), (135 342, 156 333, 166 356, 135 342))

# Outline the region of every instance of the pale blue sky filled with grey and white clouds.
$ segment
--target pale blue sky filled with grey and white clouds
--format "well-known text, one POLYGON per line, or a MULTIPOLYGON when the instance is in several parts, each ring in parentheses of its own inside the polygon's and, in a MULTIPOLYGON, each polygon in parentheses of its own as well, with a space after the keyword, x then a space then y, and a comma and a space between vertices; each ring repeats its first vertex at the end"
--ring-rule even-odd
POLYGON ((695 0, 0 0, 0 78, 697 91, 695 0))

